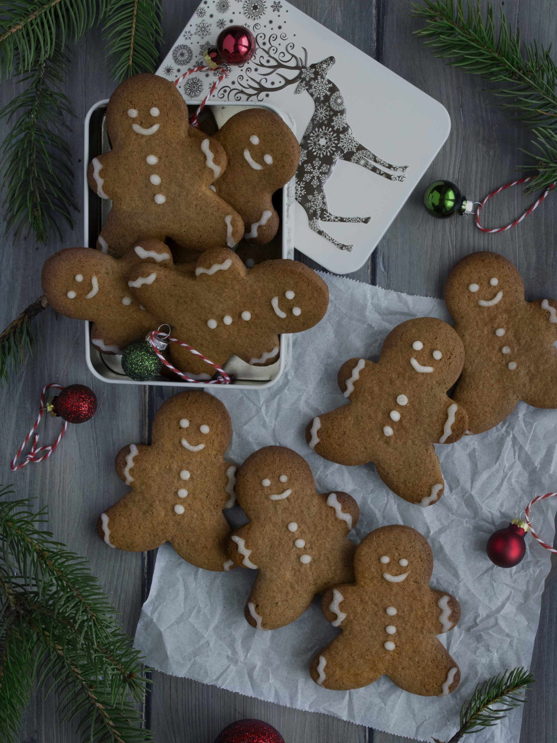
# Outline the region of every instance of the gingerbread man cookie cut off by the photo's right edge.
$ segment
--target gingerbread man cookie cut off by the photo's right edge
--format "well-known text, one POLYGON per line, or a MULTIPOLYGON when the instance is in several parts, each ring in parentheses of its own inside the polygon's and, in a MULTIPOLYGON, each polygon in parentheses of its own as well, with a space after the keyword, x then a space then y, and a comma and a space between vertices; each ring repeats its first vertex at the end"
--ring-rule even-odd
POLYGON ((496 253, 472 253, 445 282, 445 302, 466 351, 452 397, 468 432, 504 421, 518 400, 557 408, 557 302, 524 300, 518 270, 496 253))

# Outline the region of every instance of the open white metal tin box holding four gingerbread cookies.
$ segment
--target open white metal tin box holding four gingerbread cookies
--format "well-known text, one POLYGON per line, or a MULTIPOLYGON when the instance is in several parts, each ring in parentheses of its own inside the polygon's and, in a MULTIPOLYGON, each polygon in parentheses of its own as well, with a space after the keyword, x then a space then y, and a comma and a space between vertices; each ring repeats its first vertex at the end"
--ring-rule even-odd
MULTIPOLYGON (((192 101, 192 103, 201 102, 192 101)), ((91 162, 92 158, 111 149, 108 143, 105 124, 107 104, 108 99, 98 101, 94 106, 91 106, 85 117, 85 152, 83 157, 84 247, 91 247, 96 244, 102 225, 105 223, 112 206, 112 202, 109 199, 97 196, 89 188, 87 181, 88 163, 91 162)), ((254 108, 254 106, 241 106, 238 103, 218 103, 218 105, 208 106, 208 108, 212 110, 220 128, 229 117, 233 116, 241 108, 254 108)), ((270 108, 271 111, 275 111, 296 134, 294 121, 285 111, 281 111, 276 106, 270 106, 267 103, 265 106, 258 106, 258 108, 270 108)), ((278 228, 281 234, 281 257, 291 259, 294 255, 294 179, 281 189, 281 194, 278 192, 277 195, 280 197, 279 205, 282 207, 281 222, 278 228)), ((145 384, 144 382, 131 380, 124 374, 120 363, 120 356, 102 354, 97 348, 91 345, 91 325, 90 322, 85 322, 85 361, 91 374, 94 374, 102 382, 111 384, 145 384)), ((153 330, 155 329, 153 328, 153 330)), ((186 338, 183 340, 187 342, 186 338)), ((232 383, 230 385, 219 386, 234 387, 235 389, 250 389, 253 387, 264 389, 272 386, 290 363, 292 348, 290 334, 281 334, 279 336, 279 343, 280 356, 278 361, 270 366, 250 366, 250 364, 242 361, 237 356, 230 357, 227 363, 224 364, 224 370, 232 376, 232 383)), ((208 367, 208 369, 210 368, 208 367)), ((207 382, 189 383, 170 381, 160 375, 149 380, 149 384, 167 387, 196 388, 214 386, 207 382)))

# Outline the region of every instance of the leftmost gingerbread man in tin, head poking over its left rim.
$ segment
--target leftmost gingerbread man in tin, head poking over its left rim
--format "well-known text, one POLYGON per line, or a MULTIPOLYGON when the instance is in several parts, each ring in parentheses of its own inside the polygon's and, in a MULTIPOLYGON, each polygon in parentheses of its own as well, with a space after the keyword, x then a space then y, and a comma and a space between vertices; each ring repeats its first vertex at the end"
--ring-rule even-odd
POLYGON ((56 312, 94 322, 91 343, 101 353, 121 354, 160 324, 128 287, 132 267, 170 258, 169 249, 157 240, 141 240, 120 259, 89 247, 66 247, 43 265, 42 291, 56 312))

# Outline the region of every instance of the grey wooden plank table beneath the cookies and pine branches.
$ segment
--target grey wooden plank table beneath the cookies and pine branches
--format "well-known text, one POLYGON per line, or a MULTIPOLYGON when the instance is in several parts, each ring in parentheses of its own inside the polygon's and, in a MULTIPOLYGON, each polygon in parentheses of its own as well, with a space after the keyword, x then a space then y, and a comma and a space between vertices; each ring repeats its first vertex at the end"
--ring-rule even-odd
MULTIPOLYGON (((481 82, 445 68, 411 36, 419 22, 408 16, 407 0, 292 0, 293 4, 382 64, 440 100, 449 111, 452 132, 446 144, 380 242, 368 265, 353 277, 385 288, 414 294, 441 296, 443 280, 452 265, 471 250, 495 250, 510 259, 524 278, 527 299, 557 296, 557 197, 547 199, 518 229, 498 236, 480 233, 472 218, 436 221, 421 207, 421 194, 437 178, 451 178, 466 195, 483 198, 496 186, 515 177, 521 162, 519 148, 528 137, 487 106, 489 96, 481 82)), ((167 53, 196 6, 195 0, 163 0, 164 47, 167 53)), ((556 36, 557 15, 552 0, 501 2, 508 21, 521 27, 523 38, 549 44, 556 36)), ((73 48, 67 91, 76 119, 68 135, 74 153, 75 195, 82 203, 82 122, 97 100, 111 94, 115 84, 105 71, 102 38, 91 30, 73 48)), ((13 80, 2 82, 3 106, 16 93, 13 80)), ((5 124, 0 136, 4 136, 5 124)), ((530 205, 518 189, 500 195, 486 219, 501 225, 530 205)), ((0 328, 41 293, 43 262, 56 250, 82 244, 82 216, 76 214, 72 232, 62 225, 62 241, 51 238, 36 245, 33 238, 3 241, 0 263, 0 328)), ((301 257, 301 256, 298 256, 301 257)), ((303 259, 303 257, 302 257, 303 259)), ((120 551, 107 556, 95 533, 98 514, 123 495, 126 487, 114 473, 114 455, 131 441, 149 440, 149 421, 172 389, 102 384, 85 368, 82 323, 47 311, 35 323, 37 345, 33 359, 10 387, 1 392, 1 451, 4 484, 13 482, 16 495, 36 496, 37 505, 50 505, 51 529, 56 539, 83 554, 122 613, 123 626, 134 634, 142 601, 146 597, 153 557, 120 551), (99 398, 94 420, 74 426, 63 447, 47 464, 11 473, 8 460, 32 424, 39 392, 48 382, 85 383, 99 398)), ((45 424, 43 438, 51 441, 59 428, 53 419, 45 424)), ((526 500, 529 493, 524 494, 526 500)), ((532 658, 538 678, 524 710, 521 743, 557 740, 557 571, 547 580, 541 621, 532 658)), ((367 730, 325 715, 267 704, 239 694, 192 681, 154 673, 148 719, 157 743, 212 743, 218 731, 242 717, 262 718, 274 724, 287 743, 402 743, 396 736, 367 730)), ((25 715, 22 741, 74 743, 73 726, 61 726, 53 697, 43 701, 33 695, 25 715)), ((405 739, 408 740, 408 739, 405 739)))

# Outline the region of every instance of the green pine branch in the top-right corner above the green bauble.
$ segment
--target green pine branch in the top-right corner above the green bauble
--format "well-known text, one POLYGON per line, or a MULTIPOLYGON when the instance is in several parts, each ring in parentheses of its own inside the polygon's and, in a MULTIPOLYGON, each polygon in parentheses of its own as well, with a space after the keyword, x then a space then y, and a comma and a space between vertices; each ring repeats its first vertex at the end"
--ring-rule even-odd
MULTIPOLYGON (((431 48, 434 56, 455 57, 446 64, 483 80, 504 83, 504 87, 489 89, 496 99, 494 105, 512 112, 512 120, 532 129, 535 146, 542 154, 538 173, 525 191, 556 181, 557 160, 547 159, 557 143, 557 65, 550 48, 538 47, 534 41, 524 45, 523 53, 520 30, 515 34, 510 25, 507 27, 501 10, 496 34, 493 6, 489 4, 484 20, 479 0, 475 4, 469 1, 466 13, 462 0, 423 0, 423 4, 413 2, 412 10, 415 17, 427 22, 414 36, 425 39, 424 46, 431 48)), ((532 165, 523 167, 532 169, 532 165)))

